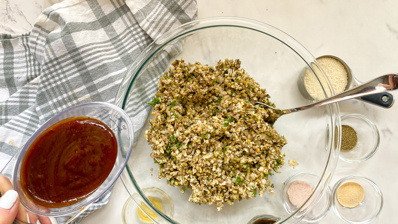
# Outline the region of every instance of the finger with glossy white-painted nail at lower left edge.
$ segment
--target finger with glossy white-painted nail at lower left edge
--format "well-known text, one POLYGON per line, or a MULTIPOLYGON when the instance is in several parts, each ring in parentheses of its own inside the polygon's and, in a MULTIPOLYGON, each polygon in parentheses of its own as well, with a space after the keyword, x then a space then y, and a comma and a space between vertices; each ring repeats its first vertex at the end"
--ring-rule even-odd
POLYGON ((8 190, 0 197, 0 224, 12 224, 19 207, 18 193, 8 190))

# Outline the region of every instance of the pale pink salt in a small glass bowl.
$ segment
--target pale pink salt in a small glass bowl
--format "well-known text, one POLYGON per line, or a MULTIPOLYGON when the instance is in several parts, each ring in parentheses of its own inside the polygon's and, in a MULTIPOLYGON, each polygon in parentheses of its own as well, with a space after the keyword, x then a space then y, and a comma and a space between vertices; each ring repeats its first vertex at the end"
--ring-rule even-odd
POLYGON ((296 208, 300 208, 311 195, 313 189, 314 188, 305 182, 295 181, 287 189, 287 195, 289 196, 291 204, 296 208))

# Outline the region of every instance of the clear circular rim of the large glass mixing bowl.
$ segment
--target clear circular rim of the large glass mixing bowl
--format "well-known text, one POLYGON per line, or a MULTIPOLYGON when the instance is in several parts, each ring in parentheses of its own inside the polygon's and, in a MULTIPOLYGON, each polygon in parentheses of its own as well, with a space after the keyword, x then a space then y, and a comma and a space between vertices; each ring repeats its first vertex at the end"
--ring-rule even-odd
MULTIPOLYGON (((331 91, 331 93, 333 94, 333 87, 330 84, 330 81, 328 79, 328 77, 326 76, 326 73, 322 70, 321 66, 319 65, 319 63, 316 61, 315 57, 313 55, 311 55, 307 49, 305 49, 301 43, 299 43, 298 41, 296 41, 294 38, 292 38, 291 36, 289 36, 288 34, 286 34, 285 32, 279 30, 276 27, 273 27, 271 25, 262 23, 260 21, 257 20, 253 20, 253 19, 248 19, 248 18, 242 18, 242 17, 233 17, 233 16, 218 16, 218 17, 208 17, 208 18, 202 18, 202 19, 197 19, 197 20, 193 20, 190 21, 186 24, 182 24, 176 28, 171 29, 170 31, 160 35, 159 37, 157 37, 152 43, 150 43, 137 57, 137 59, 133 62, 133 64, 130 66, 130 68, 127 70, 125 77, 123 77, 121 84, 119 86, 119 89, 117 91, 116 97, 115 97, 115 101, 114 103, 116 105, 119 105, 121 108, 125 108, 126 106, 126 101, 128 98, 128 92, 131 90, 132 84, 134 83, 135 79, 137 78, 137 76, 140 74, 141 70, 144 68, 144 65, 148 62, 148 60, 150 58, 152 58, 158 51, 159 49, 164 48, 167 43, 171 42, 172 40, 177 39, 178 37, 181 37, 183 35, 186 35, 187 33, 196 31, 196 30, 202 30, 202 29, 206 29, 206 28, 211 28, 211 27, 215 27, 215 26, 204 26, 201 28, 196 28, 194 30, 190 30, 189 31, 189 27, 190 26, 194 26, 196 24, 210 24, 210 23, 240 23, 241 25, 218 25, 216 27, 240 27, 240 28, 245 28, 245 29, 251 29, 254 31, 258 31, 261 32, 263 34, 266 34, 268 36, 271 36, 275 39, 278 39, 279 41, 285 43, 285 45, 290 48, 291 50, 293 50, 297 56, 301 57, 305 63, 307 63, 306 59, 303 58, 303 55, 305 55, 306 57, 308 57, 309 59, 311 59, 311 63, 314 63, 317 68, 319 69, 319 71, 321 72, 322 76, 324 76, 327 79, 327 82, 325 83, 327 86, 323 86, 322 88, 328 87, 329 90, 331 91), (257 29, 254 28, 249 28, 249 27, 245 27, 244 25, 248 25, 248 26, 255 26, 257 29), (263 30, 269 30, 272 32, 276 32, 278 35, 283 35, 283 38, 285 38, 285 40, 281 40, 275 36, 270 35, 269 33, 266 33, 265 31, 261 31, 261 29, 263 30), (188 30, 188 31, 187 31, 188 30), (178 33, 180 31, 184 31, 182 34, 179 34, 177 36, 172 36, 175 33, 178 33), (172 37, 170 37, 172 36, 172 37), (170 38, 170 39, 168 39, 170 38), (289 44, 291 44, 292 46, 298 48, 301 52, 301 54, 299 54, 295 49, 293 49, 289 44, 287 44, 287 42, 289 44), (129 74, 133 74, 130 75, 129 74), (126 84, 127 83, 127 84, 126 84)), ((308 67, 312 69, 312 67, 307 63, 308 67)), ((318 78, 318 77, 317 77, 318 78)), ((328 153, 328 160, 324 166, 324 172, 320 175, 320 179, 318 184, 315 187, 315 190, 313 191, 313 193, 311 194, 311 196, 314 193, 318 194, 318 197, 321 196, 322 193, 325 192, 326 188, 322 187, 321 184, 324 184, 325 186, 327 186, 330 183, 331 180, 331 176, 334 173, 334 170, 336 168, 337 162, 338 162, 338 151, 340 150, 340 138, 334 138, 334 133, 335 131, 337 131, 337 134, 339 137, 341 137, 341 125, 340 125, 340 111, 339 111, 339 107, 337 103, 334 104, 329 104, 327 105, 328 110, 329 110, 329 116, 330 116, 330 121, 332 124, 334 124, 334 128, 332 128, 332 133, 333 133, 333 137, 331 141, 331 144, 328 146, 328 148, 330 148, 330 151, 328 153), (335 117, 334 117, 335 116, 335 117), (334 145, 334 141, 337 141, 337 149, 333 146, 334 145), (333 145, 332 145, 333 144, 333 145), (337 155, 335 155, 335 153, 337 152, 337 155), (329 170, 328 170, 329 168, 329 170), (327 173, 328 171, 328 173, 327 173), (325 181, 325 183, 322 183, 322 180, 325 181), (320 195, 319 195, 320 194, 320 195)), ((142 194, 142 190, 140 189, 140 187, 138 186, 138 184, 135 181, 135 178, 132 174, 132 172, 130 171, 129 165, 126 165, 126 169, 125 171, 122 172, 121 174, 121 180, 123 185, 125 185, 127 191, 129 192, 130 195, 132 195, 133 193, 131 193, 131 191, 129 190, 129 182, 132 183, 133 187, 135 188, 136 191, 138 191, 142 201, 144 202, 144 204, 146 206, 148 206, 149 208, 153 209, 155 211, 155 213, 158 214, 158 216, 163 219, 166 220, 169 223, 178 223, 175 220, 173 220, 172 218, 168 217, 167 215, 164 215, 163 212, 161 212, 160 210, 158 210, 152 203, 150 200, 148 200, 145 195, 142 194)), ((316 198, 316 199, 317 199, 316 198)), ((314 200, 316 201, 316 200, 314 200)), ((305 206, 308 203, 308 200, 303 204, 303 206, 305 206)), ((136 204, 137 203, 136 201, 136 204)), ((301 217, 304 217, 308 212, 309 212, 309 208, 311 206, 309 206, 305 211, 305 214, 301 214, 301 217)), ((290 214, 288 217, 285 217, 283 220, 280 220, 278 223, 283 223, 287 220, 289 220, 290 218, 292 218, 297 212, 299 212, 300 209, 298 209, 296 212, 290 214)))

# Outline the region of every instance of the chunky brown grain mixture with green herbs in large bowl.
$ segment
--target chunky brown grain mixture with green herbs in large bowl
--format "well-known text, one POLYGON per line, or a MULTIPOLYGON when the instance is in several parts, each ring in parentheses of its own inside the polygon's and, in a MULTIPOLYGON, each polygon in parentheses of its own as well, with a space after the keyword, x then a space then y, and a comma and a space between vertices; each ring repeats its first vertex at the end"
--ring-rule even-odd
POLYGON ((172 62, 159 79, 151 127, 145 138, 159 164, 159 178, 192 189, 190 201, 216 204, 273 193, 268 176, 284 164, 286 139, 268 124, 278 117, 255 101, 264 88, 237 60, 216 66, 172 62))

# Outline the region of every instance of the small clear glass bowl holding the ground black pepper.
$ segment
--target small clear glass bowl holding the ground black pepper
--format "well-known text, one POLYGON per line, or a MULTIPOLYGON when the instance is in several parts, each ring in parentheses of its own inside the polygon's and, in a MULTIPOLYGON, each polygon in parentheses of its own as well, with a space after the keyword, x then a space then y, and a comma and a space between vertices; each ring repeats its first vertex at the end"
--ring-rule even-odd
POLYGON ((359 114, 341 117, 341 125, 349 125, 357 132, 357 144, 351 150, 340 150, 340 159, 349 163, 361 163, 374 155, 379 148, 380 134, 375 123, 359 114))

